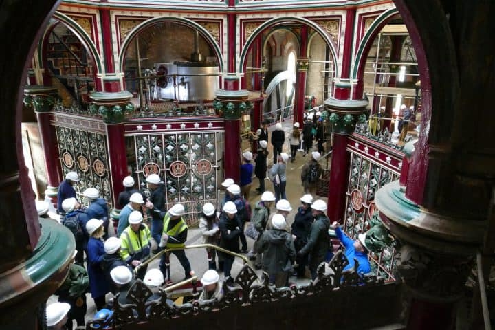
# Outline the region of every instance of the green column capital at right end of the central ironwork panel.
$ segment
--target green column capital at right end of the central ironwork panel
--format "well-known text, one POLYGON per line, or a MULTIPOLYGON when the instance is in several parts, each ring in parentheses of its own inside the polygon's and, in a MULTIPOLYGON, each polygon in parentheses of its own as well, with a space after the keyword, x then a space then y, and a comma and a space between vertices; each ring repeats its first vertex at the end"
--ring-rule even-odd
POLYGON ((225 120, 240 120, 243 113, 248 113, 252 103, 248 101, 249 91, 225 91, 219 89, 217 98, 213 101, 213 107, 225 120))

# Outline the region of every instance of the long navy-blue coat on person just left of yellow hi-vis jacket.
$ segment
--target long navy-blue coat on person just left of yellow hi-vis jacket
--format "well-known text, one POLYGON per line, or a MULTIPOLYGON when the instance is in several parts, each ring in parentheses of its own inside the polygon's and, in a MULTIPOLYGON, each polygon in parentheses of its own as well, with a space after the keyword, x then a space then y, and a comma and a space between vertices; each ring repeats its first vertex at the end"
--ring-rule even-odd
POLYGON ((104 254, 103 241, 90 237, 87 246, 87 269, 89 289, 93 298, 104 296, 110 291, 110 285, 101 267, 104 254))

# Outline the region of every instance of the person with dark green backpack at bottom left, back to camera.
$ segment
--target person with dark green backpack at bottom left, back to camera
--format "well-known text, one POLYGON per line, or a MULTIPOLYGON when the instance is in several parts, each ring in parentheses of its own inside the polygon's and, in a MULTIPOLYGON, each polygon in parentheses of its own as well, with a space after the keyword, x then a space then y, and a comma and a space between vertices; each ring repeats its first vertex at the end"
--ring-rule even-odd
POLYGON ((74 251, 72 263, 69 266, 69 274, 64 283, 54 294, 58 296, 60 303, 68 303, 71 307, 67 314, 67 327, 72 329, 72 320, 76 320, 78 327, 85 325, 87 311, 86 290, 89 286, 87 270, 82 265, 74 263, 77 250, 74 251))

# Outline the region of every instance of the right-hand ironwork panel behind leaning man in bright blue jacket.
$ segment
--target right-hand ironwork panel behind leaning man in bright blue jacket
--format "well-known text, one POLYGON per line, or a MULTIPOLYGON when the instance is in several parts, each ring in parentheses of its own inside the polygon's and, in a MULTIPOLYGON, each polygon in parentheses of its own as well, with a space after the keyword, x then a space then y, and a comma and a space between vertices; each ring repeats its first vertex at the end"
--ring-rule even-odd
MULTIPOLYGON (((382 186, 399 179, 399 173, 374 162, 373 159, 351 152, 351 168, 347 186, 347 209, 344 231, 352 239, 367 232, 369 220, 375 212, 375 192, 382 186)), ((384 248, 380 254, 370 252, 371 268, 377 276, 395 280, 393 246, 384 248)))

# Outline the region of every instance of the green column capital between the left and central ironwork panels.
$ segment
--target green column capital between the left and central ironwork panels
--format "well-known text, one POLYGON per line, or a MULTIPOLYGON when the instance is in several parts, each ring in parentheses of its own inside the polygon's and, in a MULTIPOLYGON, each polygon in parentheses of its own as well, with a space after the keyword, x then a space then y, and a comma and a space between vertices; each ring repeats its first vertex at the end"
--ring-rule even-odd
POLYGON ((89 106, 89 111, 93 114, 100 114, 107 124, 120 124, 124 122, 126 113, 131 113, 134 104, 129 102, 132 94, 129 91, 118 91, 116 93, 106 93, 98 91, 89 96, 93 102, 89 106))

